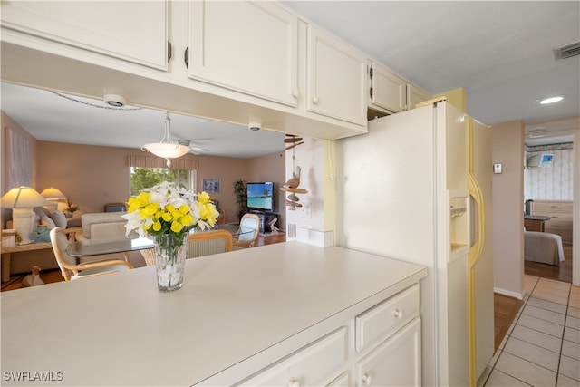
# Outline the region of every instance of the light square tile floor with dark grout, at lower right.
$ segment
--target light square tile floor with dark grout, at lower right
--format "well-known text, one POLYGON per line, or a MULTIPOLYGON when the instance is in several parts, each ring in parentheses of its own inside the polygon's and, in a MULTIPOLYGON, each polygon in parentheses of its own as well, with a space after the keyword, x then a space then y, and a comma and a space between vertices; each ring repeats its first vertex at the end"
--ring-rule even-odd
POLYGON ((483 385, 580 386, 580 287, 536 276, 525 287, 483 385))

